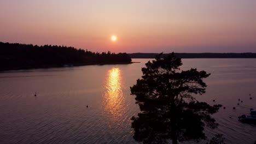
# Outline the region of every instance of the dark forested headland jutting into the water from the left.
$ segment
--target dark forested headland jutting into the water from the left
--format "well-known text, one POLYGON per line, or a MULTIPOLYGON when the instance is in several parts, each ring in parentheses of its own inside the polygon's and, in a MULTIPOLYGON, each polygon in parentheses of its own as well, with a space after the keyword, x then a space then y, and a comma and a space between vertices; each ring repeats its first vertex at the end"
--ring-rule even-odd
POLYGON ((0 70, 62 67, 63 65, 131 63, 126 53, 91 52, 67 46, 0 42, 0 70))

